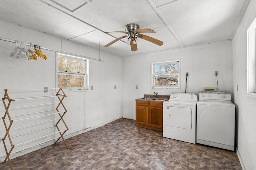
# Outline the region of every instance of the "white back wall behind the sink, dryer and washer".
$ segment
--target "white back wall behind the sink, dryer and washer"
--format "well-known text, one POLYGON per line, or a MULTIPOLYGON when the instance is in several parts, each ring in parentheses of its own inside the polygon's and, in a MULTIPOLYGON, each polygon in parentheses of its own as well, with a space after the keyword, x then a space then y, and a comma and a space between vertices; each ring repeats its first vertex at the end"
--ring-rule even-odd
POLYGON ((230 41, 198 45, 161 53, 123 59, 123 117, 135 119, 135 99, 144 94, 170 95, 177 90, 151 90, 151 62, 180 59, 181 90, 185 92, 186 72, 189 73, 187 92, 197 93, 203 87, 216 87, 214 71, 218 70, 219 90, 232 91, 232 45, 230 41), (138 85, 138 89, 135 86, 138 85))

